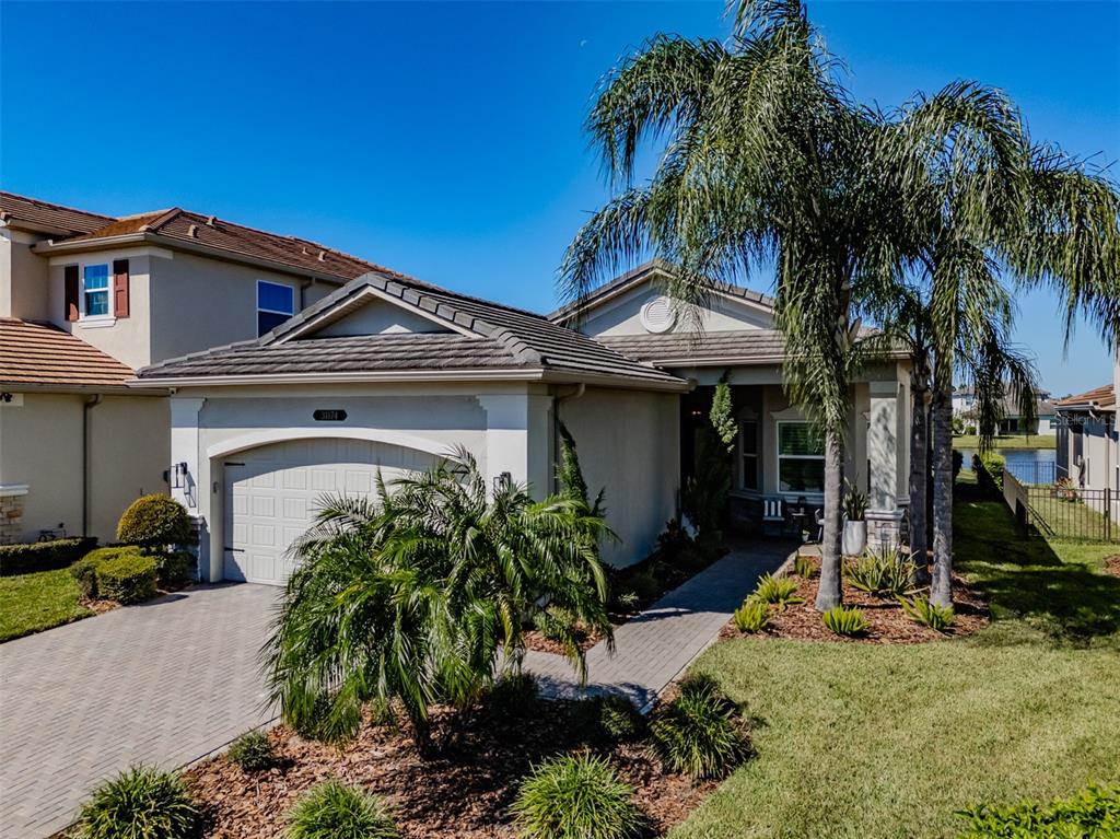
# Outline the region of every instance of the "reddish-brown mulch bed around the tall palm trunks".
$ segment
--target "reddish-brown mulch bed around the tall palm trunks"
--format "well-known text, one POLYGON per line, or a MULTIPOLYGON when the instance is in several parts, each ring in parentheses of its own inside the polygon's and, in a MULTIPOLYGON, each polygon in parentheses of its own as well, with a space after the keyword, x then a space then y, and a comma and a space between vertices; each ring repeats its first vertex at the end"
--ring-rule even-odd
MULTIPOLYGON (((809 579, 793 576, 797 580, 797 596, 804 603, 787 606, 780 610, 771 606, 769 624, 756 637, 800 638, 805 641, 833 641, 849 644, 924 644, 931 641, 971 635, 983 628, 990 619, 987 602, 976 590, 968 587, 964 580, 953 575, 953 610, 956 621, 948 632, 937 632, 927 626, 916 624, 903 610, 895 599, 876 597, 860 591, 849 585, 847 578, 841 584, 844 606, 862 609, 864 616, 871 624, 867 634, 859 637, 844 637, 829 630, 821 621, 821 613, 813 608, 816 597, 816 584, 820 578, 820 559, 813 557, 813 576, 809 579)), ((721 638, 744 637, 728 623, 720 632, 721 638)))

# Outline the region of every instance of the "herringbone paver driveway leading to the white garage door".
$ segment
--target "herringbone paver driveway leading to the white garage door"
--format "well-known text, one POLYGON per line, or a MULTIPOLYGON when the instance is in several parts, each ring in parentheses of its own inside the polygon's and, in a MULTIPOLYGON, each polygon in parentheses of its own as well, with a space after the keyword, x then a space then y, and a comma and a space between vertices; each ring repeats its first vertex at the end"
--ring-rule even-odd
POLYGON ((49 836, 97 781, 268 721, 258 651, 279 590, 203 586, 0 644, 0 837, 49 836))

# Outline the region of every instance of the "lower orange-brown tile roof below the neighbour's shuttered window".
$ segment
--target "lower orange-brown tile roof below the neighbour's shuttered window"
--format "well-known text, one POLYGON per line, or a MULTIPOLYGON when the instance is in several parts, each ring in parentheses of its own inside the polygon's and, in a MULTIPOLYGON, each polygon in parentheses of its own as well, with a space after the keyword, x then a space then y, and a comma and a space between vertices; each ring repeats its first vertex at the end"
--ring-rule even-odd
POLYGON ((0 318, 0 384, 123 388, 132 369, 47 324, 0 318))

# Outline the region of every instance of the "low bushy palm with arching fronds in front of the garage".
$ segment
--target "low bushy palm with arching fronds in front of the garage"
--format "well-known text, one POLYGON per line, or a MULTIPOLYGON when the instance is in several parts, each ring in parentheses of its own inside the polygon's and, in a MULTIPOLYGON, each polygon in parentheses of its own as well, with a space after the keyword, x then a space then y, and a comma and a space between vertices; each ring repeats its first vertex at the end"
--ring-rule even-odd
POLYGON ((570 496, 534 502, 511 483, 487 493, 465 450, 379 477, 375 502, 325 498, 264 647, 273 701, 326 740, 353 737, 367 702, 399 702, 426 748, 430 706, 469 706, 520 668, 523 626, 547 606, 586 678, 577 624, 612 637, 605 532, 570 496))

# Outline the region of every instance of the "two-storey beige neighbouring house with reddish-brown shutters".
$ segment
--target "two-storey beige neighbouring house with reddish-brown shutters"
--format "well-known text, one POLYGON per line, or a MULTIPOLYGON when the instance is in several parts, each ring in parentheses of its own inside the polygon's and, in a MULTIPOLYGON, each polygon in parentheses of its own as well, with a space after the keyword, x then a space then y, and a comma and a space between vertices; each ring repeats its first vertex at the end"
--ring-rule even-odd
POLYGON ((112 539, 177 474, 169 392, 127 386, 133 372, 255 338, 376 268, 179 208, 0 193, 0 542, 112 539))

